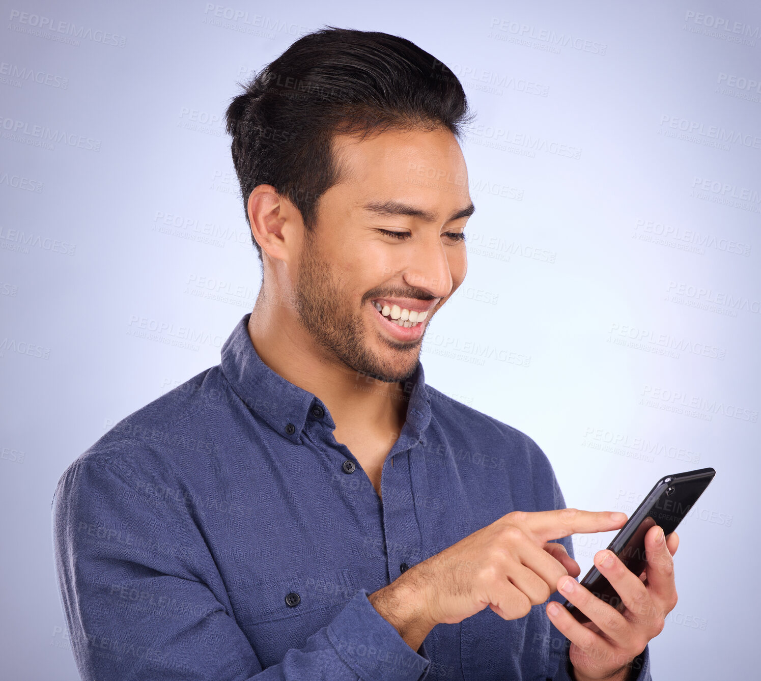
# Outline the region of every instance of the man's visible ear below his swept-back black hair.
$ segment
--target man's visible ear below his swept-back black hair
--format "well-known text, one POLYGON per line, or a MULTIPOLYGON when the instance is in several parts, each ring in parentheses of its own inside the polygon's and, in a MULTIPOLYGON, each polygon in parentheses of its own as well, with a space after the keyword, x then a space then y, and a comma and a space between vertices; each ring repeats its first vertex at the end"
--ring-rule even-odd
POLYGON ((293 224, 298 215, 295 206, 279 196, 271 184, 260 184, 248 196, 247 212, 251 232, 262 254, 289 262, 297 247, 298 225, 293 224))

